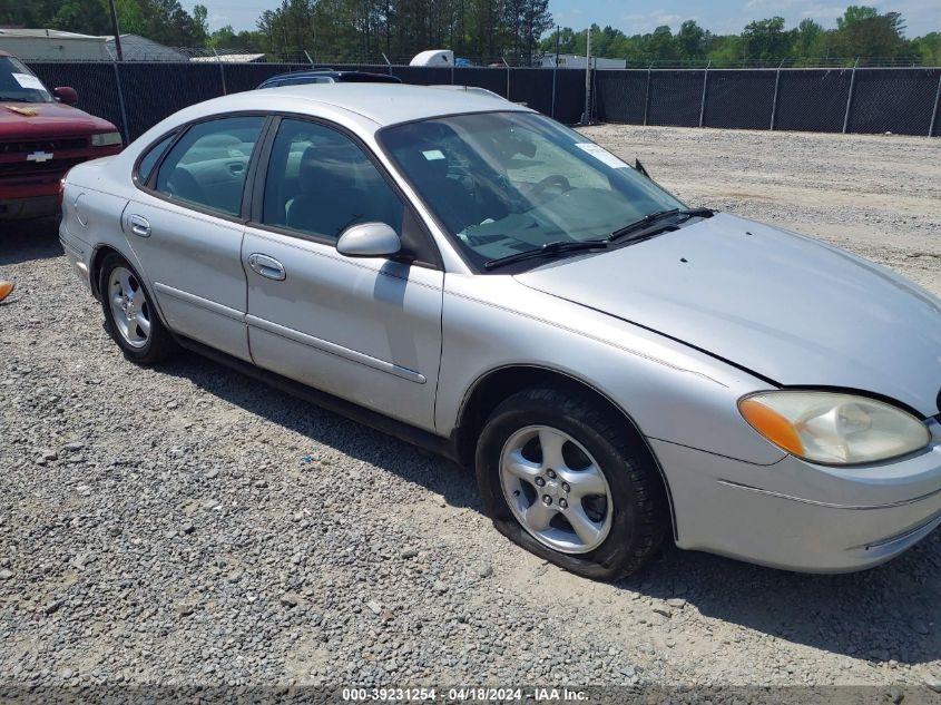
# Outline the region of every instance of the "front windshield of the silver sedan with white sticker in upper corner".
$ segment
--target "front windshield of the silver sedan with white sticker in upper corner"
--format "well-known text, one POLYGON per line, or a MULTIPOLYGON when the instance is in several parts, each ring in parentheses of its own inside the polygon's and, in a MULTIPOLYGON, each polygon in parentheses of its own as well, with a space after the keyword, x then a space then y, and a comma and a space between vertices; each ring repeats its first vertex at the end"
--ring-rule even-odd
MULTIPOLYGON (((478 266, 550 243, 597 241, 683 204, 555 120, 530 112, 432 118, 380 137, 478 266)), ((585 252, 584 249, 581 252, 585 252)))

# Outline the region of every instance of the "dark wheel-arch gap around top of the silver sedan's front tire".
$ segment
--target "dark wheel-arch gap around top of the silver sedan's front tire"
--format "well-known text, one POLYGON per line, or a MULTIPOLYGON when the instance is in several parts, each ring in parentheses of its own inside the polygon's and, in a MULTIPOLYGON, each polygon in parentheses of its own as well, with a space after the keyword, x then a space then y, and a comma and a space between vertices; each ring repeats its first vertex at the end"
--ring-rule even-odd
POLYGON ((676 539, 677 523, 676 516, 674 515, 669 480, 660 467, 654 449, 650 448, 646 437, 637 425, 637 422, 626 409, 617 404, 598 388, 569 373, 539 365, 513 364, 497 368, 480 375, 464 394, 464 399, 458 411, 453 440, 461 464, 473 467, 477 439, 488 417, 500 402, 519 391, 540 385, 555 385, 586 393, 606 407, 611 413, 626 421, 625 428, 633 437, 636 447, 640 452, 647 454, 660 477, 660 482, 663 482, 664 492, 669 506, 670 530, 673 531, 674 539, 676 539))

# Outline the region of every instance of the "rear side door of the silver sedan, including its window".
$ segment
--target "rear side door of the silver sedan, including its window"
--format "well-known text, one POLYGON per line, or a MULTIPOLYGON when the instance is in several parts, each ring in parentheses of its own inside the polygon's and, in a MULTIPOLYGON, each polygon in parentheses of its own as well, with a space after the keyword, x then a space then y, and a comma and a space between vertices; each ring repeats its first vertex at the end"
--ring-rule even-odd
POLYGON ((257 115, 219 117, 161 140, 140 160, 122 217, 167 325, 243 360, 242 204, 264 125, 257 115))

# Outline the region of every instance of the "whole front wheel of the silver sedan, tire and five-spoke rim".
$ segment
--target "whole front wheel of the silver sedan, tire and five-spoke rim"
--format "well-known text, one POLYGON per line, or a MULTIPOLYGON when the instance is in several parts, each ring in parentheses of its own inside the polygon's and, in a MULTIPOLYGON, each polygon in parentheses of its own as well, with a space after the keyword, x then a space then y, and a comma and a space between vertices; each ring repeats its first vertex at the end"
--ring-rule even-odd
POLYGON ((581 391, 503 401, 477 445, 487 510, 510 540, 584 577, 638 570, 669 527, 663 480, 639 434, 581 391))

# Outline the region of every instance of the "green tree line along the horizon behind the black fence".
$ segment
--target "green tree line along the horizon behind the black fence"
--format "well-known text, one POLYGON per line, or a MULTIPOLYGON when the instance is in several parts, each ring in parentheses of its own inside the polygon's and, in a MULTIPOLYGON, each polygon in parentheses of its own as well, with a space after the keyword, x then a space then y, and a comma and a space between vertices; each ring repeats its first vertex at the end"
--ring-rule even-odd
MULTIPOLYGON (((179 0, 115 0, 122 32, 171 47, 203 47, 269 53, 317 62, 408 61, 424 49, 452 49, 479 65, 531 66, 543 55, 584 55, 587 31, 556 28, 549 0, 282 0, 265 10, 253 30, 209 31, 207 0, 190 14, 179 0)), ((107 35, 108 0, 17 0, 3 3, 0 26, 53 28, 107 35)), ((941 32, 905 36, 899 12, 851 6, 826 29, 813 19, 787 28, 783 18, 749 22, 738 35, 716 35, 694 20, 674 32, 627 35, 591 26, 592 55, 626 59, 628 66, 812 65, 827 59, 918 59, 941 66, 941 32)))

